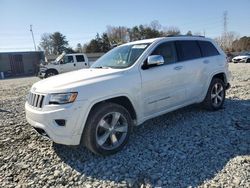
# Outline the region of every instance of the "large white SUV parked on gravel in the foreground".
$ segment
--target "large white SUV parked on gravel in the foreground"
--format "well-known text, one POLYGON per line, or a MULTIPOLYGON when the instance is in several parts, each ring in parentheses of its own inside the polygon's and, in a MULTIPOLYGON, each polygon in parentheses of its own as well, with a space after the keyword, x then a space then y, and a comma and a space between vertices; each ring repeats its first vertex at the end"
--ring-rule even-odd
POLYGON ((90 69, 35 83, 26 117, 56 143, 109 155, 123 148, 133 126, 148 119, 194 103, 220 109, 228 74, 224 52, 204 37, 131 42, 90 69))

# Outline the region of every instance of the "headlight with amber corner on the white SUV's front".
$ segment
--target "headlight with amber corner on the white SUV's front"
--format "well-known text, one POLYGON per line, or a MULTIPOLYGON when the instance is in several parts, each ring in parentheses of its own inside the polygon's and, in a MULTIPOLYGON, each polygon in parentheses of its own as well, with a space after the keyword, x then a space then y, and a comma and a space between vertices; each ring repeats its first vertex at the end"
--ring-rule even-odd
POLYGON ((76 100, 77 92, 51 94, 49 104, 67 104, 76 100))

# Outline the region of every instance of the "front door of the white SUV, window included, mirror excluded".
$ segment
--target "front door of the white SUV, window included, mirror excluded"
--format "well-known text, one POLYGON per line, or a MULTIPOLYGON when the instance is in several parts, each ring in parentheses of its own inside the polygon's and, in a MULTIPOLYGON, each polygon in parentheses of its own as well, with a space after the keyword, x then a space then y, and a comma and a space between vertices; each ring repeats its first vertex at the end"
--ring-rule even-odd
POLYGON ((185 100, 185 67, 177 63, 174 42, 160 44, 151 55, 162 55, 164 64, 141 70, 144 117, 153 116, 185 100))

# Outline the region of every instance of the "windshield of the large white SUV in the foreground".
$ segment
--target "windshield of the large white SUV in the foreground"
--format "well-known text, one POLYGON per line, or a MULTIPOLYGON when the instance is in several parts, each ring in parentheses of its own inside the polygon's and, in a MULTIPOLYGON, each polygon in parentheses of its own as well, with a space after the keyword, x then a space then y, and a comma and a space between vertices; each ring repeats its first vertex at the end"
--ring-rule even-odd
POLYGON ((91 68, 122 69, 130 67, 148 46, 149 43, 116 47, 98 59, 91 68))

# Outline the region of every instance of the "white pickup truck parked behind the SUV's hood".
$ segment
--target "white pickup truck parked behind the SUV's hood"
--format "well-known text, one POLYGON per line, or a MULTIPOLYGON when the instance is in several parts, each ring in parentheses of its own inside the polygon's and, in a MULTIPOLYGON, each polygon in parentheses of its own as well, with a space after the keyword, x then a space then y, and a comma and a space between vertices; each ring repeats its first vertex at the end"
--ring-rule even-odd
POLYGON ((47 65, 41 64, 38 76, 48 78, 57 74, 70 72, 82 68, 89 68, 86 54, 61 54, 56 60, 47 65))

